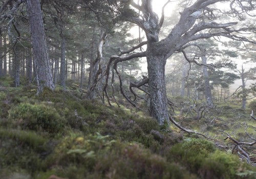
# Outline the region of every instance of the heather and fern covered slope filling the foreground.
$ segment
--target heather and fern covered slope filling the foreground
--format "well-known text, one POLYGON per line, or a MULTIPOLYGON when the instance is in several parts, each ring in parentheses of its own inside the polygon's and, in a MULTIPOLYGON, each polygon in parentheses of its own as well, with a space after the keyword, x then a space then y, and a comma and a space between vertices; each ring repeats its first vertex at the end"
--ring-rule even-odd
POLYGON ((256 178, 211 142, 72 87, 36 96, 35 85, 0 85, 0 178, 256 178))

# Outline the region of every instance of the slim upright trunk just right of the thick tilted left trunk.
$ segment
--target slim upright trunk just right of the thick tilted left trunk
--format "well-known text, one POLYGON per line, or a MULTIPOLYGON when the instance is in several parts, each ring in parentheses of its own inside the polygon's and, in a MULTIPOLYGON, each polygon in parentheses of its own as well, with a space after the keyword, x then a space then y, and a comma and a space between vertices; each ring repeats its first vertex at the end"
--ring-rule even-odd
MULTIPOLYGON (((62 35, 61 35, 62 36, 62 35)), ((60 56, 60 85, 66 89, 66 39, 62 37, 60 56)))

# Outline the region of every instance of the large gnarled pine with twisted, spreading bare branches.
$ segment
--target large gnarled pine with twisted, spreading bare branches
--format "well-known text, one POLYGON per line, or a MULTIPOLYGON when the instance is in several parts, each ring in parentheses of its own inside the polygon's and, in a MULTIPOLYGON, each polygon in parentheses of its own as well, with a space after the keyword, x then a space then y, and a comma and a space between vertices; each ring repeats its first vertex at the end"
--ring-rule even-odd
MULTIPOLYGON (((130 89, 133 87, 142 89, 142 86, 146 84, 147 91, 144 88, 143 91, 150 97, 148 108, 152 117, 156 118, 158 123, 162 125, 165 120, 168 121, 169 119, 168 100, 165 89, 165 64, 167 58, 179 52, 186 57, 185 49, 194 45, 199 39, 226 37, 233 40, 254 43, 253 40, 242 36, 241 33, 253 33, 255 28, 250 24, 248 24, 248 27, 239 25, 242 24, 242 20, 246 16, 252 16, 250 12, 255 10, 256 2, 250 0, 233 0, 231 2, 226 0, 182 1, 180 6, 183 10, 179 14, 174 14, 179 18, 178 23, 162 40, 159 40, 159 33, 164 21, 164 7, 172 1, 168 0, 163 6, 161 18, 154 12, 152 2, 153 0, 142 0, 139 4, 136 4, 134 1, 117 3, 117 5, 130 5, 130 7, 132 6, 133 9, 137 10, 135 10, 137 13, 131 13, 131 9, 128 11, 129 13, 127 10, 119 11, 119 20, 130 21, 139 26, 145 32, 147 41, 141 42, 131 50, 112 56, 107 70, 111 70, 110 66, 113 64, 113 69, 115 69, 120 79, 121 93, 133 105, 136 105, 131 100, 131 97, 122 91, 120 73, 116 70, 116 66, 121 61, 131 60, 136 57, 146 57, 148 77, 144 77, 140 82, 131 83, 130 89), (229 10, 217 9, 214 7, 217 3, 223 3, 229 10), (228 17, 228 20, 221 19, 223 16, 228 17), (229 19, 234 21, 230 21, 229 19), (144 44, 147 46, 146 51, 131 53, 144 44)), ((218 38, 217 40, 219 40, 218 38)), ((186 58, 186 60, 188 62, 196 62, 194 59, 186 58)), ((106 72, 106 75, 110 76, 110 72, 106 72)), ((104 91, 106 96, 108 96, 106 87, 104 91)), ((135 95, 135 93, 133 94, 135 95)))

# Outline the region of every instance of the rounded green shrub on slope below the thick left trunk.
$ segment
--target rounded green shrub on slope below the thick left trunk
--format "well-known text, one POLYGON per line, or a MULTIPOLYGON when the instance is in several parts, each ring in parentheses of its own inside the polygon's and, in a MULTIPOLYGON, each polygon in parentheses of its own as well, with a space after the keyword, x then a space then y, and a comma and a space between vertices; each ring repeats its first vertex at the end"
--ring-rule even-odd
POLYGON ((42 130, 50 133, 59 132, 66 121, 53 106, 45 104, 20 103, 9 110, 9 118, 22 129, 42 130))

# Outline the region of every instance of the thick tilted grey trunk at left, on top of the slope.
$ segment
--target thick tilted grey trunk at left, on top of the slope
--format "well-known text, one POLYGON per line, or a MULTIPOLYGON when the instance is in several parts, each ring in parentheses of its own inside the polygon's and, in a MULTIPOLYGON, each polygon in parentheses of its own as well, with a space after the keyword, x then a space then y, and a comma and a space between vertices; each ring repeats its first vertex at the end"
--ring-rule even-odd
POLYGON ((50 69, 49 54, 46 44, 44 24, 39 0, 26 0, 27 13, 29 17, 33 56, 36 69, 37 94, 44 87, 54 90, 52 73, 50 69))

